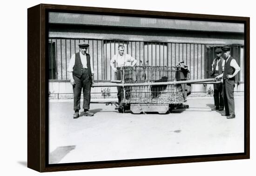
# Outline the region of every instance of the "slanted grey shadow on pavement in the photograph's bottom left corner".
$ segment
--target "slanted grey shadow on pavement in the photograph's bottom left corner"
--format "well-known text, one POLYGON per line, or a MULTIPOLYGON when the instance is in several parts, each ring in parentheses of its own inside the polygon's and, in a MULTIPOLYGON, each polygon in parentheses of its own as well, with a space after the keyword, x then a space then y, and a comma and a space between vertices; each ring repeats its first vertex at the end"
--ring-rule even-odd
POLYGON ((50 153, 49 164, 59 163, 71 150, 75 149, 75 145, 61 146, 50 153))

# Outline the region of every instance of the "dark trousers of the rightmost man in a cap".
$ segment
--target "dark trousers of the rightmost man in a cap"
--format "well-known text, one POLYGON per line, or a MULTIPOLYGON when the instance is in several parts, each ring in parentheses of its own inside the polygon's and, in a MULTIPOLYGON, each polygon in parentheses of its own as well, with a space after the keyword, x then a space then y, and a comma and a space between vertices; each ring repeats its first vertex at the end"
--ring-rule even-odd
POLYGON ((225 105, 225 113, 230 115, 235 115, 234 87, 234 80, 223 80, 223 98, 225 105))

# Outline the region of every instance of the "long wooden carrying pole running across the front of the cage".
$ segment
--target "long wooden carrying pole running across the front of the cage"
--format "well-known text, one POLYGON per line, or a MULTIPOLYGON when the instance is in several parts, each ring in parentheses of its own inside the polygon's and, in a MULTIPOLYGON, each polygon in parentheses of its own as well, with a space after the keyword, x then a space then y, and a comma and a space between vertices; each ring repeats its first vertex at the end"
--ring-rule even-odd
POLYGON ((126 87, 126 86, 147 86, 147 85, 180 85, 188 83, 216 82, 214 78, 195 79, 184 81, 168 81, 168 82, 146 82, 146 83, 94 83, 93 87, 126 87))

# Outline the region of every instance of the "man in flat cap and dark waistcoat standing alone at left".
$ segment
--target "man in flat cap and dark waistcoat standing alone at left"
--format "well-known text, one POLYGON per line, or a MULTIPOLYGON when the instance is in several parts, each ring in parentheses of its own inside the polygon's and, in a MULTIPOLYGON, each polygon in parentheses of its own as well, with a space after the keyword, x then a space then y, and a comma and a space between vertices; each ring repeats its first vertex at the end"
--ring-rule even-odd
POLYGON ((87 52, 89 44, 81 42, 78 44, 79 51, 72 55, 68 69, 70 83, 73 85, 74 92, 74 116, 79 117, 81 91, 83 89, 83 109, 85 116, 93 116, 90 112, 91 85, 93 84, 92 75, 94 74, 93 61, 87 52))

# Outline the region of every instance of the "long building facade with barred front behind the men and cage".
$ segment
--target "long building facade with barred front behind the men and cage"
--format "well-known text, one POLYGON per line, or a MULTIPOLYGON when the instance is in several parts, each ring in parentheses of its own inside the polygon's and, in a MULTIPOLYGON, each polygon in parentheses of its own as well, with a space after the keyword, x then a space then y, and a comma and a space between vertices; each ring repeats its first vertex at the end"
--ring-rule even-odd
MULTIPOLYGON (((184 61, 190 79, 210 78, 215 49, 231 47, 231 56, 241 67, 236 75, 236 91, 243 91, 243 24, 192 20, 152 19, 76 13, 49 13, 48 78, 51 94, 71 94, 67 67, 79 52, 78 43, 88 41, 93 59, 95 82, 115 79, 111 57, 123 44, 137 65, 175 66, 184 61)), ((211 86, 211 85, 210 85, 211 86)), ((102 88, 92 89, 92 93, 102 88)), ((207 91, 207 86, 192 85, 192 92, 207 91)), ((115 88, 111 88, 115 93, 115 88)), ((95 97, 95 96, 92 96, 95 97)), ((99 97, 99 96, 98 96, 99 97)))

